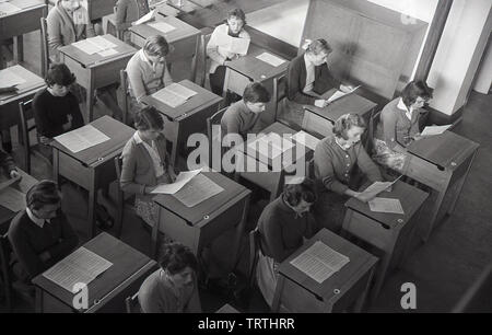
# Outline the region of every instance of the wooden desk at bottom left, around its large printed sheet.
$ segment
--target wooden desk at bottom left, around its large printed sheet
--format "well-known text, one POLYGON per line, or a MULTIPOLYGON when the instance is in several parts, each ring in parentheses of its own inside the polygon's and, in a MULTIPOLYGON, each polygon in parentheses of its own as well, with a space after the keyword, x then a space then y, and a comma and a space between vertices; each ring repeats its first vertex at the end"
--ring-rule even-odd
POLYGON ((83 246, 113 263, 106 272, 87 285, 89 308, 75 310, 72 292, 38 275, 33 279, 36 287, 36 312, 124 313, 125 299, 138 291, 143 280, 157 269, 155 261, 106 232, 102 232, 83 246))

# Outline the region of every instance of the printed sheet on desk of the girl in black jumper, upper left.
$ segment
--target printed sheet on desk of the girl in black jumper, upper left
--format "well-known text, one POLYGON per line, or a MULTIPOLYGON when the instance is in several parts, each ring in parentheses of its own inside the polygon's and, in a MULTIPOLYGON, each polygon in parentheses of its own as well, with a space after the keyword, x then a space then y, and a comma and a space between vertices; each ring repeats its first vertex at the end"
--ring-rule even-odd
POLYGON ((65 132, 55 139, 72 152, 79 152, 109 140, 104 132, 91 125, 65 132))

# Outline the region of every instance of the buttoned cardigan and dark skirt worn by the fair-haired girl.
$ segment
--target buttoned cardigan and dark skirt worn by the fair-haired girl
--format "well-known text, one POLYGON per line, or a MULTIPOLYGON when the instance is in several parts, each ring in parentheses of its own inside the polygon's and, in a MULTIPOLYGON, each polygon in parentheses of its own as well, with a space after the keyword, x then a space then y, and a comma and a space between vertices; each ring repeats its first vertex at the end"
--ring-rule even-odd
POLYGON ((350 198, 344 192, 348 188, 356 190, 364 184, 355 168, 371 183, 380 182, 383 177, 361 142, 344 150, 335 136, 323 139, 316 146, 314 164, 319 196, 314 208, 316 221, 338 232, 344 217, 344 203, 350 198))

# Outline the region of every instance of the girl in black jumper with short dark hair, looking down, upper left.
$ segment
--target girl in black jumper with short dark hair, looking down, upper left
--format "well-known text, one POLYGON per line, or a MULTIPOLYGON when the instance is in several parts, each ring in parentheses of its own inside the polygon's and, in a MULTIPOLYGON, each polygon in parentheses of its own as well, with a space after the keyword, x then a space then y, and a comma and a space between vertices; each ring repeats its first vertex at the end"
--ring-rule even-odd
POLYGON ((70 92, 75 76, 65 63, 51 63, 45 82, 47 88, 36 92, 33 99, 36 131, 45 157, 51 158, 52 149, 48 143, 54 137, 71 131, 84 125, 79 102, 70 92))

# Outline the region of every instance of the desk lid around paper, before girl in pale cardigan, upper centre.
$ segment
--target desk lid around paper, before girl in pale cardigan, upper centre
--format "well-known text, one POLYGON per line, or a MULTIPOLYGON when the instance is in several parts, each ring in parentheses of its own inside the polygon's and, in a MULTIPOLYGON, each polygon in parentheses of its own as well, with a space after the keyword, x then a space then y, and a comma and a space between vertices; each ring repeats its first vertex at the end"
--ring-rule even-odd
POLYGON ((144 96, 142 101, 144 104, 155 107, 159 112, 161 112, 172 120, 179 120, 181 118, 188 117, 222 101, 221 96, 210 92, 209 90, 203 89, 200 85, 197 85, 196 83, 189 81, 188 79, 181 80, 179 84, 197 92, 198 94, 195 94, 188 101, 177 106, 176 108, 166 105, 165 103, 153 97, 152 95, 144 96))

